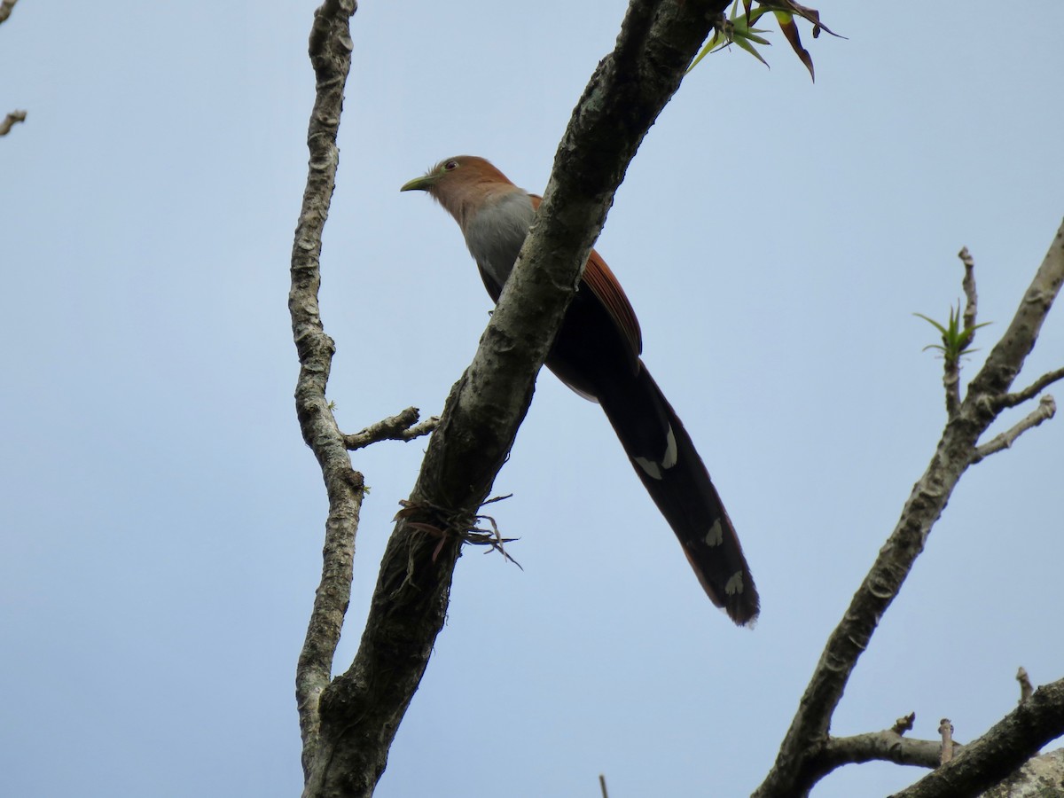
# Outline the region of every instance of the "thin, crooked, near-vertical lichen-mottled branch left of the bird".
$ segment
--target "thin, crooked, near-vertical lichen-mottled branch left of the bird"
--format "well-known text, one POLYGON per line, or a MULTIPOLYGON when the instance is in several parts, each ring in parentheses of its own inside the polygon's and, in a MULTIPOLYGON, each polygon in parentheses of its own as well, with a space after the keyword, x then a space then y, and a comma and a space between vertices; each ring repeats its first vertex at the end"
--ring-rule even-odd
POLYGON ((309 778, 320 738, 319 701, 328 686, 333 656, 351 595, 354 535, 362 508, 362 475, 351 468, 344 435, 326 399, 334 345, 318 307, 321 232, 336 183, 336 132, 344 85, 351 66, 349 21, 354 0, 327 0, 314 15, 310 54, 317 96, 306 144, 310 165, 292 248, 288 311, 299 354, 296 414, 303 440, 314 451, 329 496, 321 582, 314 598, 306 638, 296 666, 296 703, 303 739, 303 775, 309 778))

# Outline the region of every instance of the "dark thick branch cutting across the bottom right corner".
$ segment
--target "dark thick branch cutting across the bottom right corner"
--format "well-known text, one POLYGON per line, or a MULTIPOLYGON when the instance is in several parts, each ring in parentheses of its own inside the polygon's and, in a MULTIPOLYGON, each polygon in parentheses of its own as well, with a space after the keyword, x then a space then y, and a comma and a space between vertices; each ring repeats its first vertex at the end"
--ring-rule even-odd
POLYGON ((932 770, 893 798, 976 795, 996 784, 1064 734, 1064 679, 1038 687, 1029 701, 964 746, 952 761, 932 770))

